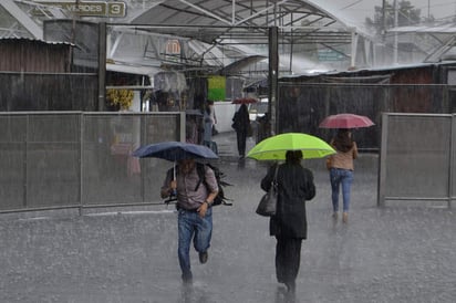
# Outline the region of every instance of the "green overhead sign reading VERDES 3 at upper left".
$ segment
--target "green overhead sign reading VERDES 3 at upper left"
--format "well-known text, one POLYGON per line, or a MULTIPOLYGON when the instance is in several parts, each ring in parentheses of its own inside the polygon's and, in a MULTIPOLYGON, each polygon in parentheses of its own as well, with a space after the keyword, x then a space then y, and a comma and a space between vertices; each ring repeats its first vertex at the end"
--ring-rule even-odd
MULTIPOLYGON (((62 10, 75 13, 81 17, 125 17, 125 2, 108 2, 108 1, 75 1, 52 2, 52 1, 37 1, 39 4, 60 8, 62 10)), ((45 9, 43 9, 45 11, 45 9)), ((40 8, 34 8, 32 13, 34 15, 42 15, 43 11, 40 8)))

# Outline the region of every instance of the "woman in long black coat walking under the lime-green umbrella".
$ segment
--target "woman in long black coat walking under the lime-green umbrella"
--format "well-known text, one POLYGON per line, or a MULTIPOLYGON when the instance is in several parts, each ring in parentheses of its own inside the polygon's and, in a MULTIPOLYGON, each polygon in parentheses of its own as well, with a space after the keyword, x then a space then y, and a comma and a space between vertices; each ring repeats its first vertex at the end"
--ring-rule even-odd
POLYGON ((302 152, 288 150, 286 163, 273 165, 261 180, 266 191, 271 187, 276 167, 279 199, 276 216, 271 217, 269 230, 276 236, 276 275, 289 292, 294 293, 299 272, 301 242, 307 239, 308 223, 305 201, 315 196, 313 174, 301 165, 302 152))

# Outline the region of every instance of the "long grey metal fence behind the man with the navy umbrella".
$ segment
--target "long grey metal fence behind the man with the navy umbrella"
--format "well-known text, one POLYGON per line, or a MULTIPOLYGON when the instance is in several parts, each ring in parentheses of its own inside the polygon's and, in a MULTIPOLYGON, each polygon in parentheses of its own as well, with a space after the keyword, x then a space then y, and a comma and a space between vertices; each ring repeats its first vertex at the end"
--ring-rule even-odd
POLYGON ((0 211, 141 205, 169 164, 131 153, 185 139, 185 114, 0 113, 0 211))

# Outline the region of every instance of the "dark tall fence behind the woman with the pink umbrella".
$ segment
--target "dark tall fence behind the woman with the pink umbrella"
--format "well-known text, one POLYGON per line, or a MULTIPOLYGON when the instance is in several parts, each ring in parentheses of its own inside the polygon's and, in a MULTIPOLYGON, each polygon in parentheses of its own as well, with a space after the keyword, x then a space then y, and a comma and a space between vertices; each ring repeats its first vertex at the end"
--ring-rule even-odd
POLYGON ((355 129, 362 150, 377 152, 382 113, 449 114, 456 109, 455 87, 442 84, 279 83, 278 130, 302 132, 330 140, 331 129, 319 128, 328 115, 353 113, 376 125, 355 129))

